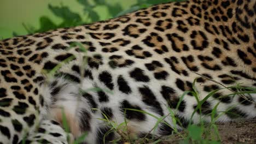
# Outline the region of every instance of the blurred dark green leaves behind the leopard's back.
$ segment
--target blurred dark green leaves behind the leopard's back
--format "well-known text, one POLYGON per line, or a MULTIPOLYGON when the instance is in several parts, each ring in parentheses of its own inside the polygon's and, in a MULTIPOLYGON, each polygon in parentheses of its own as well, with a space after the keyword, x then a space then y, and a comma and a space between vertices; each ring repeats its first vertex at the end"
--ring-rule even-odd
MULTIPOLYGON (((82 19, 82 15, 79 15, 77 13, 74 13, 69 9, 69 7, 61 4, 60 6, 54 6, 51 4, 48 4, 48 8, 51 10, 53 15, 60 17, 62 19, 62 22, 59 25, 56 25, 49 17, 41 16, 39 18, 40 27, 38 29, 30 26, 25 25, 25 23, 22 23, 24 28, 28 33, 37 33, 37 32, 45 32, 50 29, 56 29, 56 28, 63 28, 63 27, 73 27, 78 25, 83 25, 85 23, 91 23, 100 21, 100 13, 95 9, 95 7, 98 7, 99 5, 102 5, 107 8, 109 12, 109 18, 117 17, 120 15, 124 15, 127 13, 131 13, 132 11, 147 8, 150 5, 159 4, 159 3, 167 3, 167 2, 173 2, 173 1, 184 1, 184 0, 137 0, 137 3, 132 5, 129 9, 122 9, 120 4, 117 3, 115 5, 110 5, 106 0, 94 0, 94 1, 86 1, 86 0, 77 0, 77 2, 81 5, 83 5, 83 12, 84 16, 86 16, 86 20, 82 19)), ((121 1, 120 1, 121 3, 121 1)), ((14 36, 18 35, 15 32, 13 33, 14 36)))

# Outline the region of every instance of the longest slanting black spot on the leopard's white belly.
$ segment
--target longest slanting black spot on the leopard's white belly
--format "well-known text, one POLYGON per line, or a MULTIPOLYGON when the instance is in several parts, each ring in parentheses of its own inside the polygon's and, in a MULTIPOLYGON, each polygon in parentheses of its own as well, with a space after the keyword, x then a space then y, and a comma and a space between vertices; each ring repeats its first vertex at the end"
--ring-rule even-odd
POLYGON ((160 116, 164 115, 164 112, 162 111, 162 107, 158 100, 156 99, 154 93, 146 86, 140 87, 139 92, 142 94, 142 101, 153 107, 153 110, 158 113, 160 116))

